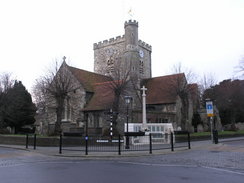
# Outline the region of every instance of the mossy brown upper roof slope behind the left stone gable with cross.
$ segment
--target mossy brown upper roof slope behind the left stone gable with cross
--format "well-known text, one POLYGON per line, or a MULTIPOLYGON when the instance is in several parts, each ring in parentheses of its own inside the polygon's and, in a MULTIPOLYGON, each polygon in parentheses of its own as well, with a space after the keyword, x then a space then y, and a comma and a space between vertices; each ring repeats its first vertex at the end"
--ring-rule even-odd
POLYGON ((108 76, 85 71, 71 66, 68 66, 68 68, 88 92, 94 92, 95 83, 111 81, 111 78, 108 76))

